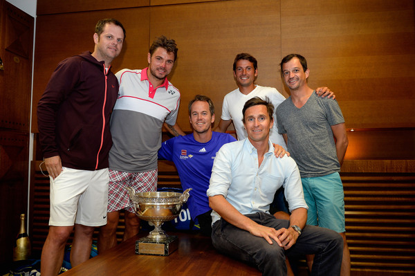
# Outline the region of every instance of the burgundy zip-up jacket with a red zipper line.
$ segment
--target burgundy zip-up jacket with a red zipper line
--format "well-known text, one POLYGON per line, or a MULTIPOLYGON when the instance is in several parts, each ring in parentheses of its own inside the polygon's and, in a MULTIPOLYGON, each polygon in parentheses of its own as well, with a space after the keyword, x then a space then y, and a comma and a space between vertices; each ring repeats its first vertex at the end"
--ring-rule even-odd
POLYGON ((104 169, 112 146, 109 118, 118 96, 116 76, 86 51, 60 62, 37 105, 44 157, 62 166, 104 169))

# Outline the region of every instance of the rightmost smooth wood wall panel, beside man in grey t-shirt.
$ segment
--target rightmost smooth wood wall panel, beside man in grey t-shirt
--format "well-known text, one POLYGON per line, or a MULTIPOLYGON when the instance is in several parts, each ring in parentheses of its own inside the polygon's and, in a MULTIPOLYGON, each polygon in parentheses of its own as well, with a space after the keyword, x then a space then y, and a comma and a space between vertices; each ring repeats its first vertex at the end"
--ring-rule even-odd
POLYGON ((348 128, 414 127, 414 1, 281 3, 282 54, 304 53, 348 128))

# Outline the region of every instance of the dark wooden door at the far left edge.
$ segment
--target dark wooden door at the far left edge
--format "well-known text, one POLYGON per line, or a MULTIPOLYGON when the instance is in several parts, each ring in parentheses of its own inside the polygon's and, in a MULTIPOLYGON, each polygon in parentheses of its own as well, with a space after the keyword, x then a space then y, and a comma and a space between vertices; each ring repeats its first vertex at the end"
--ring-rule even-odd
POLYGON ((12 259, 28 206, 33 17, 0 0, 0 264, 12 259))

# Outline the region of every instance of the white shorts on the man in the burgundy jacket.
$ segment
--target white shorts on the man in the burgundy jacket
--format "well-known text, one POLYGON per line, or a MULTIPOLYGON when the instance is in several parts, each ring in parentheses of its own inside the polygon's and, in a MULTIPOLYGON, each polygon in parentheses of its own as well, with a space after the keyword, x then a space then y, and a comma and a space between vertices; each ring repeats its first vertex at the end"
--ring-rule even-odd
POLYGON ((50 177, 50 226, 107 224, 109 172, 62 167, 50 177))

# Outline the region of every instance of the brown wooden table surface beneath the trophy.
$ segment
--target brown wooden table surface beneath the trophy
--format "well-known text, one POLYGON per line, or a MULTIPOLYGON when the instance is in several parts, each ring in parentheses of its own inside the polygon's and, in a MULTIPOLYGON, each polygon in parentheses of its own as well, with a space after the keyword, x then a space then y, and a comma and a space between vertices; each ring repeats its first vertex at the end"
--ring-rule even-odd
POLYGON ((169 256, 136 255, 136 240, 144 234, 124 241, 107 252, 85 261, 64 273, 71 275, 261 275, 257 268, 221 255, 210 237, 186 232, 169 232, 178 236, 178 250, 169 256))

